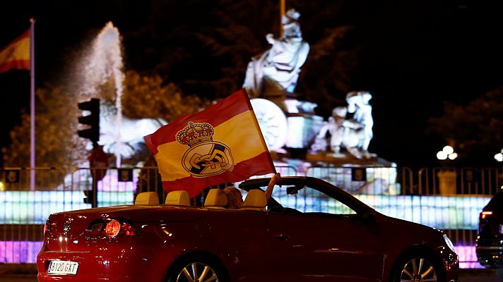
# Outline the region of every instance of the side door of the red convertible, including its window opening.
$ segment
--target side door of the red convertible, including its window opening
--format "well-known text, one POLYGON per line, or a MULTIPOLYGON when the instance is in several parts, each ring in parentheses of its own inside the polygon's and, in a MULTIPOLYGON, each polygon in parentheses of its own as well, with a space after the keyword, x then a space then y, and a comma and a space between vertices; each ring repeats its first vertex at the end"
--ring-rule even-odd
POLYGON ((292 208, 286 213, 268 214, 276 275, 291 281, 379 281, 384 252, 377 223, 307 189, 294 199, 280 196, 278 202, 292 208))

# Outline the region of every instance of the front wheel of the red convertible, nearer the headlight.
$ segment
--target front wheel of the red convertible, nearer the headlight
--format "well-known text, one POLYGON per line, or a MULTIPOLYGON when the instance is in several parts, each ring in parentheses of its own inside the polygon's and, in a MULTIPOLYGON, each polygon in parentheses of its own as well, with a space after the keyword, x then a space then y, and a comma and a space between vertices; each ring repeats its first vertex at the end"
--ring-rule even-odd
POLYGON ((391 281, 442 281, 442 264, 425 252, 403 255, 393 268, 391 281))

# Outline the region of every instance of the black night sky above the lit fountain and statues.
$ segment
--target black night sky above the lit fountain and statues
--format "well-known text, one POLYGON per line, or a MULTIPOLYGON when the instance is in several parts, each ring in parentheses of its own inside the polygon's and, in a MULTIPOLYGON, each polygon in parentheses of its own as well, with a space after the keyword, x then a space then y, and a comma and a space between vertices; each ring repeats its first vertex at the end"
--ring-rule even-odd
MULTIPOLYGON (((64 79, 61 73, 72 63, 69 54, 112 20, 124 37, 126 68, 143 73, 164 71, 167 80, 174 82, 184 77, 210 78, 219 73, 211 66, 225 63, 204 57, 208 56, 204 52, 194 57, 208 66, 196 71, 187 63, 183 67, 166 63, 172 66, 171 71, 169 66, 162 68, 166 57, 158 51, 174 46, 171 37, 162 37, 163 32, 184 23, 176 46, 195 52, 199 46, 189 34, 213 24, 208 16, 212 5, 241 2, 246 1, 11 1, 0 17, 0 47, 28 29, 29 19, 35 18, 36 83, 40 87, 64 79)), ((254 35, 261 40, 257 50, 268 48, 266 33, 278 35, 276 2, 243 4, 244 10, 256 8, 235 13, 239 23, 254 27, 254 35), (260 15, 254 14, 257 11, 260 15)), ((329 29, 351 26, 356 30, 354 42, 363 51, 352 85, 360 88, 353 90, 368 90, 373 96, 374 139, 369 149, 398 166, 438 164, 434 156, 446 144, 442 137, 427 135, 425 130, 428 118, 442 116, 444 101, 466 104, 503 86, 501 1, 287 0, 287 5, 300 11, 303 36, 309 44, 318 42, 329 29)), ((239 68, 247 62, 239 63, 239 68)), ((307 66, 309 63, 308 59, 302 69, 316 69, 307 66)), ((237 77, 238 85, 244 79, 244 69, 240 71, 243 76, 237 77)), ((20 111, 29 111, 29 82, 27 71, 0 75, 0 147, 8 147, 8 131, 19 122, 20 111)), ((309 85, 302 74, 300 83, 309 85)), ((327 80, 327 85, 330 83, 327 80)), ((204 87, 182 85, 182 89, 206 95, 204 87)), ((305 87, 298 89, 307 91, 305 87)), ((343 90, 333 93, 342 99, 343 90)), ((216 96, 227 94, 232 92, 216 96)), ((215 93, 208 91, 208 96, 215 97, 215 93)))

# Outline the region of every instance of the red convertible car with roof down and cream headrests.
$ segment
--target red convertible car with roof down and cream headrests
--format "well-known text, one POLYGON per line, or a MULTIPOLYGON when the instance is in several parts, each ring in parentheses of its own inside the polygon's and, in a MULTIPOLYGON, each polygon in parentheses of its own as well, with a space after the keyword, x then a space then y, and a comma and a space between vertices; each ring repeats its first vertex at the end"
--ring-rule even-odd
POLYGON ((42 281, 458 281, 458 256, 444 233, 379 214, 347 192, 310 177, 239 185, 241 209, 220 189, 204 207, 185 191, 164 204, 144 192, 136 204, 49 216, 37 257, 42 281))

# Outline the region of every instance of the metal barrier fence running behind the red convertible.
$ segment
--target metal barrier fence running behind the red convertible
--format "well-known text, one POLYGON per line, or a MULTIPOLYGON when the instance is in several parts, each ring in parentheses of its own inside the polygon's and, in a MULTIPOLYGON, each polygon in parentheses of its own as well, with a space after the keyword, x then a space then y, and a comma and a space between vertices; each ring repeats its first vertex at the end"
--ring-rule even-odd
MULTIPOLYGON (((282 176, 324 179, 383 214, 442 229, 457 250, 466 253, 467 263, 476 260, 471 246, 478 214, 503 185, 499 168, 422 168, 418 173, 381 166, 276 169, 282 176)), ((165 197, 154 166, 78 168, 70 173, 58 168, 4 168, 0 177, 0 263, 35 263, 49 214, 133 204, 143 191, 165 197), (30 187, 31 171, 35 171, 35 187, 30 187), (101 179, 95 187, 93 176, 101 179)))

